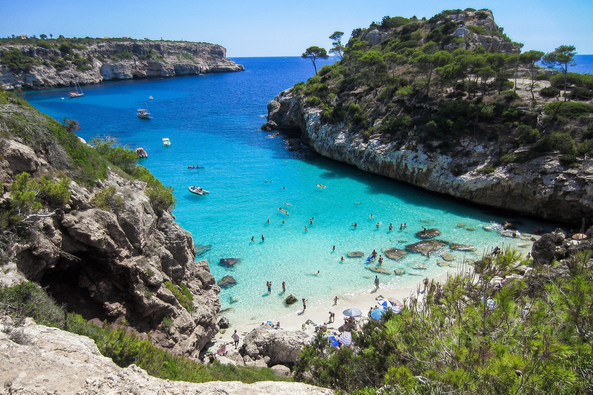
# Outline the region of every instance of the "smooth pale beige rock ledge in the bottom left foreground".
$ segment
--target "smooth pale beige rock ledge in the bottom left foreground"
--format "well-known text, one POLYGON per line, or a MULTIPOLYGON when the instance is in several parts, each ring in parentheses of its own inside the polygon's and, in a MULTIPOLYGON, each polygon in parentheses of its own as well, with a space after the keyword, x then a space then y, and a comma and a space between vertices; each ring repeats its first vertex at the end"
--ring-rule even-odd
POLYGON ((103 357, 95 343, 86 336, 35 325, 31 320, 16 329, 0 325, 0 357, 2 394, 333 394, 327 388, 304 383, 211 381, 197 384, 162 380, 148 375, 136 365, 118 367, 110 358, 103 357))

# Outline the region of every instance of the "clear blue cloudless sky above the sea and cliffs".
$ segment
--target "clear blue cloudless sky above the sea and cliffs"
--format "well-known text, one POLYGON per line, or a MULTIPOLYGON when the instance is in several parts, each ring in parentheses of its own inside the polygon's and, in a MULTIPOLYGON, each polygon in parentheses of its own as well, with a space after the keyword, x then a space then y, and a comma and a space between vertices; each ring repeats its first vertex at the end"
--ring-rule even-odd
POLYGON ((524 50, 572 44, 593 54, 593 0, 294 0, 113 1, 2 0, 0 36, 53 33, 67 37, 135 37, 206 41, 229 57, 298 56, 329 48, 340 30, 368 27, 384 15, 432 17, 443 9, 490 8, 524 50))

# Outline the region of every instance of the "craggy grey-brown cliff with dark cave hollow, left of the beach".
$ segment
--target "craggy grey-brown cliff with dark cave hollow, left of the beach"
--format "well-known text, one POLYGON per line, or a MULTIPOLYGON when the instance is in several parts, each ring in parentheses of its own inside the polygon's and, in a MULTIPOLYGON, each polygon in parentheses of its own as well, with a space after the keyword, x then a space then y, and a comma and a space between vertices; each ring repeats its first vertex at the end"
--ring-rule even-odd
MULTIPOLYGON (((59 174, 30 147, 0 139, 0 181, 9 184, 23 171, 33 177, 59 174)), ((195 356, 218 332, 220 288, 208 262, 194 262, 190 233, 167 211, 155 212, 145 188, 145 182, 113 171, 91 189, 72 181, 70 201, 9 244, 11 259, 0 281, 39 282, 66 310, 151 332, 162 348, 195 356), (119 207, 106 210, 93 203, 105 188, 121 197, 119 207), (191 295, 182 306, 178 295, 184 290, 191 295), (162 323, 165 317, 170 325, 162 323)), ((0 204, 8 198, 7 192, 0 204)))

